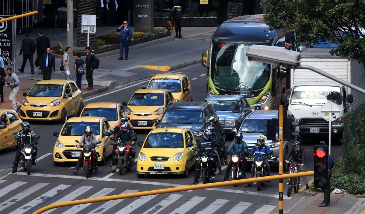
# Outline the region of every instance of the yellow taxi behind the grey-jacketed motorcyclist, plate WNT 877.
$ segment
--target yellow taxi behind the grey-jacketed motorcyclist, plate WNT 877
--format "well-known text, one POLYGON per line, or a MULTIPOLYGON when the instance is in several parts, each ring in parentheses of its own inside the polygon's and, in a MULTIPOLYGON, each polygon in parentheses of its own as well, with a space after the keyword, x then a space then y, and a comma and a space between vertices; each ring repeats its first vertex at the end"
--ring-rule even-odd
POLYGON ((105 165, 105 157, 112 154, 113 145, 110 144, 111 127, 105 118, 101 117, 73 117, 66 121, 61 133, 54 132, 58 137, 53 148, 53 161, 55 166, 62 162, 77 162, 82 148, 77 148, 81 136, 84 135, 85 126, 92 128, 96 140, 101 140, 99 148, 95 148, 99 165, 105 165))

